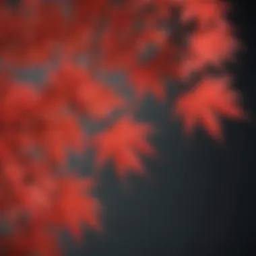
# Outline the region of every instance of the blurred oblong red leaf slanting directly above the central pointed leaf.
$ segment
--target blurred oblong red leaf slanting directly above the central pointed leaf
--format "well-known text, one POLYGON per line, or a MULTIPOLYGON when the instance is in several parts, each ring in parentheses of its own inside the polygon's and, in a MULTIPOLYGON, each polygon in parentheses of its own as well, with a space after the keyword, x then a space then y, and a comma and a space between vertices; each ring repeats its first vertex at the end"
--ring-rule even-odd
POLYGON ((63 63, 53 72, 49 84, 67 107, 75 107, 93 119, 108 117, 113 110, 125 104, 119 95, 95 80, 88 71, 71 63, 63 63))

